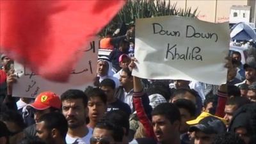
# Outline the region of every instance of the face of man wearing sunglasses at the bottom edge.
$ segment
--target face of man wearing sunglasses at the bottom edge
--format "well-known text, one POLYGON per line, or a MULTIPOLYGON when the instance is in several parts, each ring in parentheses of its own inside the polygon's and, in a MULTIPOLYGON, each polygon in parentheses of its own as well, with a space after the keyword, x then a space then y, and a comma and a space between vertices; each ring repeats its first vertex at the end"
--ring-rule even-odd
POLYGON ((92 134, 92 138, 90 140, 91 144, 100 144, 100 141, 102 141, 101 143, 104 143, 103 141, 108 141, 108 143, 115 143, 115 140, 112 136, 112 132, 108 129, 100 129, 98 127, 96 127, 93 130, 93 134, 92 134))

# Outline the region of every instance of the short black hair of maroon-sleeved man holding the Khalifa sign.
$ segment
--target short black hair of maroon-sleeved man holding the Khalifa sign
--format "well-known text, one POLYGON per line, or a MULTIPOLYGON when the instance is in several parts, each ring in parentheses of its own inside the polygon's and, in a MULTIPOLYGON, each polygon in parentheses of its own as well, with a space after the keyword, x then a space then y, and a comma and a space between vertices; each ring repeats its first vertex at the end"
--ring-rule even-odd
POLYGON ((152 116, 154 115, 163 115, 167 118, 172 124, 175 121, 180 121, 180 111, 175 104, 172 103, 162 103, 156 106, 153 109, 152 116))

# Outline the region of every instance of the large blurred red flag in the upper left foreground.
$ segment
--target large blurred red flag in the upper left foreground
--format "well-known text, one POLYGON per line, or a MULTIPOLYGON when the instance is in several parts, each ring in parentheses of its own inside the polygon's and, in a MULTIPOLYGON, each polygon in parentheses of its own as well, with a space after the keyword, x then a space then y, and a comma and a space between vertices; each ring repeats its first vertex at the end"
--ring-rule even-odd
POLYGON ((125 0, 0 0, 1 51, 47 79, 67 81, 76 52, 124 4, 125 0))

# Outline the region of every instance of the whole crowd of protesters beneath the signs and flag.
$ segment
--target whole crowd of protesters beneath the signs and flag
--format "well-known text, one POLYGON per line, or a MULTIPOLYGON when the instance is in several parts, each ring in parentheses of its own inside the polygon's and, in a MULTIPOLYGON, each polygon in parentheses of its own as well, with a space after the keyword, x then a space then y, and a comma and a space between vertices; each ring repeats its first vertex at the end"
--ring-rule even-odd
MULTIPOLYGON (((93 86, 36 99, 12 97, 13 61, 1 54, 0 143, 60 144, 254 144, 256 62, 227 58, 227 83, 132 76, 134 26, 100 46, 93 86), (118 43, 114 44, 114 42, 118 43)), ((214 77, 212 77, 214 79, 214 77)))

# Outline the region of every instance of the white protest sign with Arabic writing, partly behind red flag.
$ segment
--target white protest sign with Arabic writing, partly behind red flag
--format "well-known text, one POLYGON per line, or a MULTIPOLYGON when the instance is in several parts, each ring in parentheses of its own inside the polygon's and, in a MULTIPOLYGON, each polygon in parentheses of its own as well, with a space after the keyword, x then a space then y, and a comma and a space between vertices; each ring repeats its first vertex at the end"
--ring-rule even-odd
POLYGON ((77 61, 67 83, 48 81, 31 72, 28 67, 15 63, 15 74, 18 78, 17 83, 13 84, 13 96, 35 98, 40 92, 45 91, 61 95, 68 89, 84 90, 86 86, 92 85, 93 79, 97 76, 98 49, 99 39, 95 38, 88 47, 79 51, 83 53, 83 56, 77 61))

